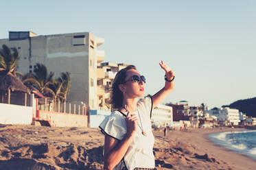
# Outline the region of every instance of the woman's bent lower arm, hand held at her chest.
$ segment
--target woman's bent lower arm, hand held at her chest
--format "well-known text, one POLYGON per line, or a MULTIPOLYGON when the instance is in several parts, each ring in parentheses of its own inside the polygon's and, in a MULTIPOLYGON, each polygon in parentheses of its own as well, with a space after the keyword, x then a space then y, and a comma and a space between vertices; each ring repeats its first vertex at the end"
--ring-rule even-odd
POLYGON ((126 136, 118 141, 117 139, 105 135, 104 143, 104 169, 113 169, 124 157, 132 138, 137 130, 137 117, 135 114, 128 112, 126 116, 127 133, 126 136))

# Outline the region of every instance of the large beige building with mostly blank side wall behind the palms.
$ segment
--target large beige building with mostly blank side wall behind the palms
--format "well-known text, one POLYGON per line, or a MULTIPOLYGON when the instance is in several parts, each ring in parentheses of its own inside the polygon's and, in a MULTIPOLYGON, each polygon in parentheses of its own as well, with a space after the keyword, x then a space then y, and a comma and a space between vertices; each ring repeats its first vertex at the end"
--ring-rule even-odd
POLYGON ((32 73, 36 63, 47 66, 57 78, 71 73, 71 89, 67 101, 82 101, 87 108, 97 109, 97 64, 104 60, 104 43, 91 32, 38 36, 33 32, 9 32, 0 45, 16 47, 20 60, 18 71, 32 73))

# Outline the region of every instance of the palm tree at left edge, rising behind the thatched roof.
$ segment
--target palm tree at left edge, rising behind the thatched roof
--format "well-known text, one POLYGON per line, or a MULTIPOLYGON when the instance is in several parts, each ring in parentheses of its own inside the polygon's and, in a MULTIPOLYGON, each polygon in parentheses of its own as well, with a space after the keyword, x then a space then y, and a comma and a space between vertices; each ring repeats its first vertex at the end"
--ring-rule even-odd
POLYGON ((16 75, 16 67, 19 62, 19 52, 16 48, 10 49, 7 45, 0 50, 0 71, 6 71, 16 75))

